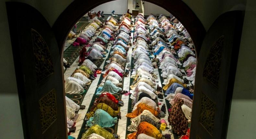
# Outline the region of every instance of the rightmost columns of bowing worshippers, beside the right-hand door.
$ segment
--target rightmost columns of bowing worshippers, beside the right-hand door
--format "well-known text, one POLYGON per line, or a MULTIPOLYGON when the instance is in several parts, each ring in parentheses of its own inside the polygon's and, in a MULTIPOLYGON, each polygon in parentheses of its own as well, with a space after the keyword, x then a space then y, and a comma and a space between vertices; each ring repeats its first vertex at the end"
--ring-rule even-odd
POLYGON ((173 23, 166 16, 160 15, 157 19, 151 15, 147 21, 156 56, 152 61, 161 69, 165 99, 171 104, 168 121, 173 134, 185 135, 191 120, 196 69, 191 38, 180 22, 173 23))

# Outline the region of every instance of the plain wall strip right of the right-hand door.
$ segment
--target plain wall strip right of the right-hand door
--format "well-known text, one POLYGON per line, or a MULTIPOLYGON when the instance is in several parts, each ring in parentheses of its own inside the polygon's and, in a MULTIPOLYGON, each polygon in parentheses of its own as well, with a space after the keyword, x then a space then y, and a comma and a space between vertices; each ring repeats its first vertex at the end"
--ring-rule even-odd
POLYGON ((251 41, 256 37, 255 25, 256 1, 247 0, 227 139, 256 137, 256 49, 251 41))

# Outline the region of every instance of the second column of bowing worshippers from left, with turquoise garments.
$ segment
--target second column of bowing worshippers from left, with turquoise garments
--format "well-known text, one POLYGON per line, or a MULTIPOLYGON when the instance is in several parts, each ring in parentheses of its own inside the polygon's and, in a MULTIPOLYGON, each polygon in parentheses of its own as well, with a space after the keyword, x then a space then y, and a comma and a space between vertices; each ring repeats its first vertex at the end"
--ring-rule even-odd
POLYGON ((128 62, 127 50, 130 48, 130 22, 129 18, 122 18, 118 23, 115 18, 111 17, 105 22, 105 27, 107 27, 101 31, 103 34, 101 37, 113 40, 110 42, 112 48, 110 57, 106 61, 107 65, 101 72, 103 79, 96 90, 97 98, 86 114, 86 126, 90 128, 83 133, 82 139, 118 138, 117 134, 112 134, 104 128, 111 128, 118 124, 118 119, 121 118, 120 106, 123 106, 123 102, 116 96, 124 92, 122 80, 128 71, 125 72, 125 65, 128 62), (113 35, 109 36, 110 33, 113 35))

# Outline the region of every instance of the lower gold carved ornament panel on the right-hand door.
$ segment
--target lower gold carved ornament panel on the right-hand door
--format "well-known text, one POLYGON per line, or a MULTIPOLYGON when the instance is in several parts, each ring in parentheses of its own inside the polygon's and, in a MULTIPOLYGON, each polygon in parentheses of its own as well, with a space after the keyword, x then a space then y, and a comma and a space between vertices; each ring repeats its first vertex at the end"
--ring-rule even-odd
POLYGON ((212 135, 216 104, 204 93, 201 95, 199 122, 212 135))

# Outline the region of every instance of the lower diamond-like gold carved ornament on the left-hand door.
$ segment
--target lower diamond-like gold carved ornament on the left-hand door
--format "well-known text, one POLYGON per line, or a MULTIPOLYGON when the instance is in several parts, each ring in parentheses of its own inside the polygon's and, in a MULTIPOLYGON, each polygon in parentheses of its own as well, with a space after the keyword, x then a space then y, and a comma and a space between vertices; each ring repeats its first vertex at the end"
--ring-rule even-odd
POLYGON ((55 89, 39 100, 40 122, 44 133, 57 119, 57 105, 55 89))

